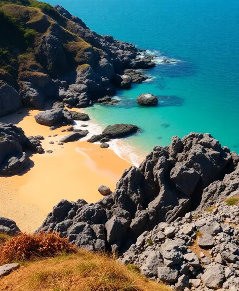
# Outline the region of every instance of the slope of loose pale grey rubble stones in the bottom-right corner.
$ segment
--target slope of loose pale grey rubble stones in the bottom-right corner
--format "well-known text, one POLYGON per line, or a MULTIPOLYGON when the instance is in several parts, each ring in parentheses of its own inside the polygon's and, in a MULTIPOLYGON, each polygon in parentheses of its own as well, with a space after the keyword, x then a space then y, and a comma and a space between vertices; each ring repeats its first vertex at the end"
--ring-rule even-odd
POLYGON ((118 261, 136 264, 144 275, 173 290, 238 290, 239 206, 222 202, 209 210, 159 223, 118 261))

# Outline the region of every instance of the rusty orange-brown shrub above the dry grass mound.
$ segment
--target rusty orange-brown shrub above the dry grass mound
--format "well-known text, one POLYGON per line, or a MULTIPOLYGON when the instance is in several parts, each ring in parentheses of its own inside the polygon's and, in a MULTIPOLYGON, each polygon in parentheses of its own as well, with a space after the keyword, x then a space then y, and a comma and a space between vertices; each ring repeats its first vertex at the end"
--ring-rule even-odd
POLYGON ((0 265, 39 257, 51 257, 61 252, 76 252, 76 246, 60 234, 39 232, 35 235, 21 233, 0 247, 0 265))

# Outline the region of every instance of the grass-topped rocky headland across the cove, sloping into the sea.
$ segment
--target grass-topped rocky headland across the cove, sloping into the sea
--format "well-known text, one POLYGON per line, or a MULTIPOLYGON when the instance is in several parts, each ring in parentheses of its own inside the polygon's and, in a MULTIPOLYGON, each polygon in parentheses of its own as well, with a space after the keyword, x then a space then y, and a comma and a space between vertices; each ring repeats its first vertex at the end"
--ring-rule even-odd
POLYGON ((147 77, 136 70, 155 66, 153 56, 141 55, 133 44, 98 35, 59 5, 42 4, 38 9, 31 0, 22 1, 22 6, 9 3, 0 7, 6 27, 0 48, 8 52, 0 60, 0 116, 22 104, 43 109, 47 99, 87 107, 114 95, 113 84, 130 88, 132 82, 144 81, 147 77))

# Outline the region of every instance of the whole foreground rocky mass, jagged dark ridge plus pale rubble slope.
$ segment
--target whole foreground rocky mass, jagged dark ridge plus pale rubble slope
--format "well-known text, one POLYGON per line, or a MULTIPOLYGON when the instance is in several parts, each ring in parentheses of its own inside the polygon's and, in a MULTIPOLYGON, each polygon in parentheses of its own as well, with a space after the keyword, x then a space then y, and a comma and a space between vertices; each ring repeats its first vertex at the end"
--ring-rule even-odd
POLYGON ((118 252, 174 289, 237 290, 238 161, 210 134, 173 137, 97 203, 62 200, 37 232, 118 252))

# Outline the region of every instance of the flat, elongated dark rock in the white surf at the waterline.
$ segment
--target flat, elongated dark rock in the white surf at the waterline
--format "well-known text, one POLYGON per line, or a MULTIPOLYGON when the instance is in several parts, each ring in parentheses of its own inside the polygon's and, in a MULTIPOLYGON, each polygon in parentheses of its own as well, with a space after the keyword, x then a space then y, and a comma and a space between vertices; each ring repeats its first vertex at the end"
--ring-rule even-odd
POLYGON ((114 124, 108 125, 102 132, 102 135, 108 138, 123 138, 136 133, 139 127, 132 124, 114 124))

